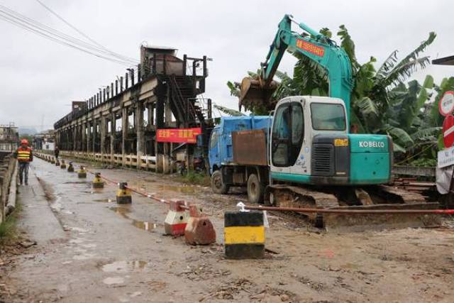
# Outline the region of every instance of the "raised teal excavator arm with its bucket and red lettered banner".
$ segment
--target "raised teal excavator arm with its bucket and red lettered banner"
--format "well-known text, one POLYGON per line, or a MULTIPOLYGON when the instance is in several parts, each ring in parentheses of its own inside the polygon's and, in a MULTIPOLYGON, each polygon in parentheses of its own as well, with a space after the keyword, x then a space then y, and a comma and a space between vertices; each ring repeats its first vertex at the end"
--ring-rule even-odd
POLYGON ((309 35, 300 35, 292 31, 291 15, 285 15, 279 23, 270 51, 265 62, 261 63, 258 79, 246 77, 241 82, 240 106, 251 104, 269 104, 277 84, 272 81, 277 67, 286 50, 309 57, 321 65, 328 74, 329 96, 340 98, 345 103, 347 119, 350 121, 350 94, 353 89, 350 59, 345 50, 333 40, 314 31, 304 23, 297 23, 309 35))

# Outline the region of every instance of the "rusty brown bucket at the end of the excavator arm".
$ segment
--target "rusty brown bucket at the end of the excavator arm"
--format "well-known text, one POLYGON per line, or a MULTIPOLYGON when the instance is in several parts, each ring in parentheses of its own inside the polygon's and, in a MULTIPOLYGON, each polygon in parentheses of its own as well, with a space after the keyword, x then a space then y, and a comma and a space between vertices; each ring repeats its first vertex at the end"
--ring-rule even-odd
POLYGON ((277 83, 272 81, 268 87, 263 85, 261 79, 245 77, 240 86, 240 103, 241 106, 250 108, 251 106, 272 107, 271 96, 277 88, 277 83))

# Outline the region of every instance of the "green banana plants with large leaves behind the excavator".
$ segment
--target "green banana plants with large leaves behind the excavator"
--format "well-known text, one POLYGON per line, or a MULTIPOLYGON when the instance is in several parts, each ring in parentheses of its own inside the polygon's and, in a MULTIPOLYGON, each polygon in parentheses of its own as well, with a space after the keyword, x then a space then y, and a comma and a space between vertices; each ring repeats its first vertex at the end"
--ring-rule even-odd
MULTIPOLYGON (((328 28, 322 28, 320 32, 334 39, 328 28)), ((358 62, 355 43, 345 26, 340 26, 336 35, 352 65, 351 124, 356 126, 358 133, 391 136, 396 164, 435 166, 436 150, 443 148, 443 117, 438 114, 438 102, 446 91, 454 89, 454 77, 436 84, 431 75, 427 75, 423 83, 411 76, 430 64, 429 57, 422 54, 433 43, 436 33, 429 33, 426 40, 400 60, 398 50, 392 50, 380 65, 373 56, 367 62, 358 62)), ((279 99, 287 96, 328 96, 326 71, 305 56, 292 55, 297 58, 294 76, 277 71, 275 77, 279 85, 270 104, 246 108, 246 111, 267 115, 279 99)), ((248 75, 258 77, 258 72, 248 72, 248 75)), ((238 82, 229 81, 227 86, 233 96, 239 97, 238 82)), ((228 115, 242 114, 232 109, 218 109, 228 115)))

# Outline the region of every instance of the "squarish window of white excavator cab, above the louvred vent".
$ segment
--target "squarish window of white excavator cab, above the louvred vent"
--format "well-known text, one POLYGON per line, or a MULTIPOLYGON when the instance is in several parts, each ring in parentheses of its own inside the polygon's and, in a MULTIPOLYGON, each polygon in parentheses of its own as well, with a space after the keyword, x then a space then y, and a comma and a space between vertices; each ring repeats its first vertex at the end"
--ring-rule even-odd
POLYGON ((345 111, 342 104, 312 103, 312 128, 317 131, 345 131, 345 111))

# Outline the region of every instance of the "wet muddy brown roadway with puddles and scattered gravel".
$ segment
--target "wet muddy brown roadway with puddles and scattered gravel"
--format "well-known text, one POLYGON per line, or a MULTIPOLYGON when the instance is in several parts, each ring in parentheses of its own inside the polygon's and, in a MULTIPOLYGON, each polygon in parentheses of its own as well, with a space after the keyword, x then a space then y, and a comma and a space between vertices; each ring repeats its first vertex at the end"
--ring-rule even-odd
POLYGON ((20 197, 33 198, 21 201, 21 226, 37 245, 3 251, 3 302, 454 302, 451 219, 441 228, 326 233, 268 214, 266 258, 226 260, 223 211, 236 209, 244 194, 96 168, 164 199, 203 204, 217 243, 187 246, 184 238, 162 236, 164 204, 133 195, 133 204, 118 206, 114 184, 94 191, 92 175, 80 180, 40 159, 31 168, 20 197), (41 200, 50 214, 37 211, 41 200))

